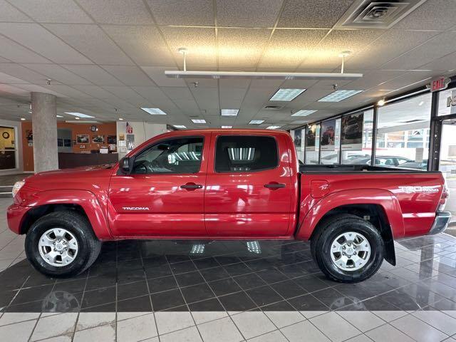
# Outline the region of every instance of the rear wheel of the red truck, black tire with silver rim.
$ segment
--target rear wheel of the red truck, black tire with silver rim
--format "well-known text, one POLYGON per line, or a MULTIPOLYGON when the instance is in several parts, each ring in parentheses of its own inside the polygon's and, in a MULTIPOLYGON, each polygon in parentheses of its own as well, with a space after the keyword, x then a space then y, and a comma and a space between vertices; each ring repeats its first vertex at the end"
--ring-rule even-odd
POLYGON ((380 232, 371 222, 355 215, 339 214, 325 219, 316 229, 311 253, 328 279, 357 283, 370 278, 380 268, 385 247, 380 232), (344 234, 355 240, 346 239, 344 234))

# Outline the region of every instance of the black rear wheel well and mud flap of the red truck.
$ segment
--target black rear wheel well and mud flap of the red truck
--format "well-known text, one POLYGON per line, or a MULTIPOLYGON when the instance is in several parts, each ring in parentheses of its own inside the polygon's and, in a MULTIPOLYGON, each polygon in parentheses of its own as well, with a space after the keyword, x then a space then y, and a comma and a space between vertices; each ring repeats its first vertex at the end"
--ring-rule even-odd
POLYGON ((371 222, 371 224, 378 229, 383 238, 383 242, 385 244, 385 260, 395 266, 396 260, 393 233, 391 232, 390 223, 388 222, 385 210, 379 204, 348 204, 331 209, 323 217, 321 217, 314 229, 314 232, 312 232, 310 239, 312 239, 314 234, 316 234, 318 225, 321 224, 321 222, 326 221, 328 217, 338 214, 352 214, 371 222))

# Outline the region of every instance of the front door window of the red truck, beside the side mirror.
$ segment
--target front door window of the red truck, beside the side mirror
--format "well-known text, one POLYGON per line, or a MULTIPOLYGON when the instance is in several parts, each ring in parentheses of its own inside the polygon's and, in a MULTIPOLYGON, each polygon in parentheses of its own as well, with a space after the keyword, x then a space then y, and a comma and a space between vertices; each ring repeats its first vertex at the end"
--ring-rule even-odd
POLYGON ((196 173, 201 165, 202 145, 202 137, 157 142, 135 157, 132 173, 196 173))

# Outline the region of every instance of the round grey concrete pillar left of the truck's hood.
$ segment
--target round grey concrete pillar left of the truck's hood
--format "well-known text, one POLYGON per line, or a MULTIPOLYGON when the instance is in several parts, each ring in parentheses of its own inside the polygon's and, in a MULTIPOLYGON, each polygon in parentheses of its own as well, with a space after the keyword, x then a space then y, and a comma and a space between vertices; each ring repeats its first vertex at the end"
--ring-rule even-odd
POLYGON ((31 93, 35 172, 58 169, 56 96, 31 93))

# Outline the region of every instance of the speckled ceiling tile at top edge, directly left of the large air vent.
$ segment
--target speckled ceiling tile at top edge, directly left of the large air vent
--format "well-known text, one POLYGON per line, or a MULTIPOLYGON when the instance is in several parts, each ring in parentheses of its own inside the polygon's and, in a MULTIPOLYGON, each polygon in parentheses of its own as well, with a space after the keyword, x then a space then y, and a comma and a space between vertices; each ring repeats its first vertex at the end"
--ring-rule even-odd
POLYGON ((353 0, 287 0, 278 27, 331 28, 353 0))

